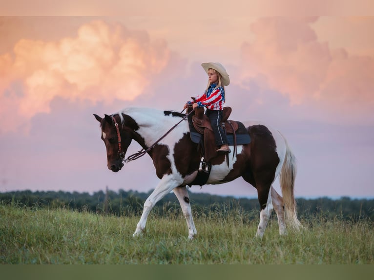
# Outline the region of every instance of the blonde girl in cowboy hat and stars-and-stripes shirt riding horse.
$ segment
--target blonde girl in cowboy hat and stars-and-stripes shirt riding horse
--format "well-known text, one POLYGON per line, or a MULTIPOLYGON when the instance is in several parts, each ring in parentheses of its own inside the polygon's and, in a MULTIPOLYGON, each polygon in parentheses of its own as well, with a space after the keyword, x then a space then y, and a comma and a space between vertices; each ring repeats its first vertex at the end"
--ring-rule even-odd
POLYGON ((208 74, 208 86, 204 94, 196 97, 196 102, 188 101, 185 109, 190 105, 196 107, 206 107, 205 115, 210 120, 210 124, 214 131, 215 143, 220 148, 219 153, 230 153, 226 133, 221 126, 222 109, 225 103, 225 85, 229 85, 230 79, 226 69, 218 62, 209 62, 201 64, 208 74))

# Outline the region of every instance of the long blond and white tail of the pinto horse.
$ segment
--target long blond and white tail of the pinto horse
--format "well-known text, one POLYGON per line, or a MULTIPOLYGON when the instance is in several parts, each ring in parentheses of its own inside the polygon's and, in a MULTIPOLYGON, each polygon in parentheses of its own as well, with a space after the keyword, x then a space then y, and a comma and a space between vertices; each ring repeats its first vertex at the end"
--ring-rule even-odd
MULTIPOLYGON (((279 132, 280 133, 280 132, 279 132)), ((282 135, 280 133, 280 135, 282 135)), ((296 215, 296 201, 293 189, 296 179, 296 158, 293 155, 286 138, 282 135, 286 144, 286 155, 279 174, 279 181, 283 195, 285 220, 291 228, 299 230, 302 227, 296 215)))

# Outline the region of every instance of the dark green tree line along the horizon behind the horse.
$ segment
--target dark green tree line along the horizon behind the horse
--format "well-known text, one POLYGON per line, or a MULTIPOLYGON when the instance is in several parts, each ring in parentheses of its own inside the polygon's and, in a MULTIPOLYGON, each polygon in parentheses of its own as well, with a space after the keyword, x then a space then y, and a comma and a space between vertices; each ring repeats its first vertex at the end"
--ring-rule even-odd
MULTIPOLYGON (((24 207, 47 207, 49 209, 68 208, 78 211, 89 211, 110 215, 140 215, 146 198, 152 192, 108 190, 94 192, 63 192, 63 191, 13 191, 0 193, 2 204, 21 205, 24 207)), ((248 213, 248 219, 258 216, 260 205, 257 198, 235 198, 209 194, 190 193, 190 203, 196 215, 225 215, 230 210, 248 213)), ((369 219, 374 221, 374 199, 351 199, 341 197, 331 199, 296 199, 297 212, 300 218, 320 217, 341 218, 345 220, 369 219)), ((179 215, 179 202, 173 193, 166 195, 153 210, 157 215, 179 215)))

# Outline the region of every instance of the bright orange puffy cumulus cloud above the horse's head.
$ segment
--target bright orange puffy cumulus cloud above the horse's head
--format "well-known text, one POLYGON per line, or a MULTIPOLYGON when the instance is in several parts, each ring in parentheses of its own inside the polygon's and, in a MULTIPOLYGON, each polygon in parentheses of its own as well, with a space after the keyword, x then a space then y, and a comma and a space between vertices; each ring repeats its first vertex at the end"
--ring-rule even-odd
POLYGON ((151 41, 145 31, 104 21, 84 24, 75 37, 19 40, 12 54, 0 55, 1 111, 16 112, 13 126, 1 123, 1 130, 20 124, 21 118, 48 113, 55 97, 133 100, 165 68, 169 56, 164 40, 151 41))

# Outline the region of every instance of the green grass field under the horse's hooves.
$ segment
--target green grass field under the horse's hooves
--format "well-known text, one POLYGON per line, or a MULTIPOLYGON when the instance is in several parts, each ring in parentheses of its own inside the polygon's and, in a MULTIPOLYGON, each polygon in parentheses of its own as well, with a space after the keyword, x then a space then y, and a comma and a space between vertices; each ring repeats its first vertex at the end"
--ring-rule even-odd
POLYGON ((133 238, 137 216, 0 204, 0 263, 374 264, 369 220, 312 217, 301 220, 307 226, 301 233, 279 236, 274 218, 260 240, 254 238, 257 212, 195 215, 195 240, 187 240, 179 212, 152 212, 145 234, 133 238))

